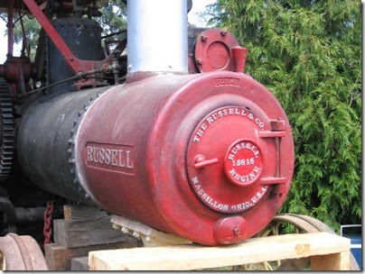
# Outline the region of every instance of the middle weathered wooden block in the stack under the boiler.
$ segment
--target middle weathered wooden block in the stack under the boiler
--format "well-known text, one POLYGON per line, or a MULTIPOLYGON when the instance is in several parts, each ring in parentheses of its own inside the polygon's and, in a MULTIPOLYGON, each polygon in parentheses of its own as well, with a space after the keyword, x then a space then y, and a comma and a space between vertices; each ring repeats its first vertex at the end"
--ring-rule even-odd
POLYGON ((126 242, 131 238, 114 229, 110 223, 110 218, 82 223, 56 219, 53 221, 53 229, 54 242, 66 248, 126 242))

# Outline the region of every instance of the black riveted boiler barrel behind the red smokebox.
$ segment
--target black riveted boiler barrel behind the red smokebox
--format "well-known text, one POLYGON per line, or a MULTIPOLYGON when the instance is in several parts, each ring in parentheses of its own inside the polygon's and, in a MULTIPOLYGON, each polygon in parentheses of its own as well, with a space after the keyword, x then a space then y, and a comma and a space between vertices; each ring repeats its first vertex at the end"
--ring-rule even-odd
POLYGON ((92 204, 76 177, 73 140, 89 105, 109 87, 92 88, 46 100, 40 98, 23 114, 18 132, 18 158, 38 187, 84 204, 92 204), (55 182, 58 182, 55 184, 55 182))

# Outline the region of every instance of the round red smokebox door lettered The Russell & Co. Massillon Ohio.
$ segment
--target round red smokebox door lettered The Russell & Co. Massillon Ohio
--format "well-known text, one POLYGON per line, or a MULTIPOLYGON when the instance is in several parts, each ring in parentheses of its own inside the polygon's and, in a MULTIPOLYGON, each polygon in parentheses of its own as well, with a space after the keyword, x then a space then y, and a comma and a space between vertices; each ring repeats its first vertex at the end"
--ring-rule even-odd
POLYGON ((192 132, 186 152, 192 191, 220 213, 237 214, 255 206, 268 187, 259 183, 265 169, 267 121, 247 107, 223 106, 207 114, 192 132))

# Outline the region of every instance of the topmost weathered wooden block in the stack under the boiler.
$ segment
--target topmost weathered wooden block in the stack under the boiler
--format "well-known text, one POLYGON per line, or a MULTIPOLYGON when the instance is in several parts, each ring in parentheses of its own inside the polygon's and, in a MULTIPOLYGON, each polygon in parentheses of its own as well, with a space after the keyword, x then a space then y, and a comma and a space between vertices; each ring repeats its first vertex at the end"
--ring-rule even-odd
POLYGON ((71 223, 110 219, 107 212, 87 205, 63 205, 63 215, 65 221, 71 223))

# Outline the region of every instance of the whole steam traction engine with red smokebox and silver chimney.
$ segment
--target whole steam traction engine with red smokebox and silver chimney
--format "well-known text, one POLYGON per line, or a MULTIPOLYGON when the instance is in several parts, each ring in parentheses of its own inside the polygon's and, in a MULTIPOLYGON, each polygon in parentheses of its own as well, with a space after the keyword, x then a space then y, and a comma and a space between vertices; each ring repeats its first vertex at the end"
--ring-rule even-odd
POLYGON ((52 194, 204 245, 270 222, 293 176, 290 125, 243 73, 248 50, 231 33, 187 27, 189 4, 128 1, 127 37, 108 53, 95 1, 0 1, 9 22, 19 11, 42 25, 31 62, 26 42, 13 57, 9 24, 0 66, 11 210, 40 206, 29 196, 42 208, 52 194))

